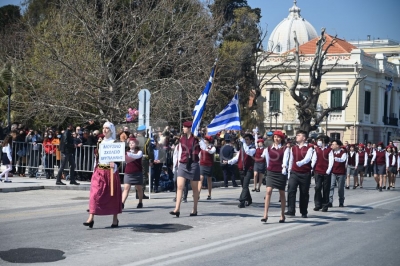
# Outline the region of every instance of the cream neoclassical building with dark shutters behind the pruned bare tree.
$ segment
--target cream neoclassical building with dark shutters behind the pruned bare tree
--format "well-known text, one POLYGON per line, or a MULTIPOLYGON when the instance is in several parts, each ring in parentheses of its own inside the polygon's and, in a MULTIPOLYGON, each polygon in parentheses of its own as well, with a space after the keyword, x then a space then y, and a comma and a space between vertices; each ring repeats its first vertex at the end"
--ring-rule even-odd
MULTIPOLYGON (((296 1, 294 7, 297 7, 296 1)), ((294 7, 290 9, 291 13, 296 13, 294 7)), ((306 28, 310 28, 309 23, 306 28)), ((276 30, 274 34, 278 34, 276 30)), ((333 37, 326 36, 328 44, 333 37)), ((300 45, 301 68, 297 93, 303 97, 307 97, 305 88, 309 82, 308 71, 314 58, 316 41, 317 38, 314 38, 300 45)), ((386 44, 382 43, 374 43, 374 47, 369 47, 367 43, 336 39, 334 46, 329 49, 324 67, 329 69, 335 62, 337 66, 322 77, 321 90, 330 90, 321 94, 318 109, 342 105, 358 75, 366 75, 367 78, 355 87, 348 107, 330 113, 319 125, 318 133, 324 132, 350 143, 383 141, 386 144, 391 139, 400 138, 400 45, 392 41, 390 47, 384 47, 386 44)), ((293 84, 295 68, 285 72, 282 68, 270 70, 271 66, 282 62, 283 56, 285 54, 276 52, 263 62, 259 77, 268 80, 277 73, 281 74, 279 79, 272 78, 262 88, 261 98, 257 101, 263 102, 266 130, 282 129, 288 136, 294 136, 299 121, 294 108, 296 102, 288 88, 293 84)))

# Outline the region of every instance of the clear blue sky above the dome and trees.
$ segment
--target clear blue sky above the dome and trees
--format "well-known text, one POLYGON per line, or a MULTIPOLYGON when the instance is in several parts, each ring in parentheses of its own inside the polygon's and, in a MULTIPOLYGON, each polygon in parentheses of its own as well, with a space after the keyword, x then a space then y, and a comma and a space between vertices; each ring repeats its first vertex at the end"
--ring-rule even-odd
MULTIPOLYGON (((0 0, 0 6, 19 5, 21 0, 0 0)), ((247 0, 261 8, 262 26, 272 30, 289 14, 293 0, 247 0), (267 26, 268 25, 268 26, 267 26)), ((328 34, 346 40, 390 38, 400 42, 400 0, 297 0, 301 15, 317 32, 322 27, 328 34)))

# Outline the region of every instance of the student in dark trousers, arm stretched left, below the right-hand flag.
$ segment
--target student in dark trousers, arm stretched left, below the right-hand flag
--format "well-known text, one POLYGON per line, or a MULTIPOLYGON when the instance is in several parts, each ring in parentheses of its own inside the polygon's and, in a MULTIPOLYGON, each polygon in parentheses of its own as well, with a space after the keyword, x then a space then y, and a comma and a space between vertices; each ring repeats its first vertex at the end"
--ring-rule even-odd
POLYGON ((227 163, 230 165, 238 163, 241 180, 243 180, 242 193, 239 197, 239 208, 245 208, 246 205, 249 206, 251 203, 253 203, 249 189, 250 180, 254 176, 253 156, 256 153, 256 147, 253 144, 253 140, 253 135, 244 135, 244 138, 240 138, 240 141, 242 142, 242 148, 236 154, 236 156, 228 161, 223 161, 223 163, 227 163))

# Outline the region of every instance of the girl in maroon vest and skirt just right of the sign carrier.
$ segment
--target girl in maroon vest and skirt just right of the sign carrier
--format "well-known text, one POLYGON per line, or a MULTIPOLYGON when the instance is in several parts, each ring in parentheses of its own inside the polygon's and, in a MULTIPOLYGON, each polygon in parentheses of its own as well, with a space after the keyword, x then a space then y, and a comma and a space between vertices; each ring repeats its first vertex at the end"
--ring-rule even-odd
POLYGON ((143 152, 140 150, 138 144, 138 140, 129 139, 129 151, 127 151, 125 155, 126 165, 124 175, 124 192, 122 193, 122 209, 125 207, 125 201, 128 198, 132 185, 135 186, 139 195, 139 204, 137 205, 137 208, 143 208, 143 152))

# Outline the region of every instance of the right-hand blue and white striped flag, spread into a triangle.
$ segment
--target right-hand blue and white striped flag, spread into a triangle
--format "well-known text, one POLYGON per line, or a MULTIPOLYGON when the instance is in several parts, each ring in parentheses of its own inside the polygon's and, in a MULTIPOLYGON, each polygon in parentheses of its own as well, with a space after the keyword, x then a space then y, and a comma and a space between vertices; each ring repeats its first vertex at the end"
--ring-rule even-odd
POLYGON ((221 130, 241 130, 239 116, 239 97, 236 93, 232 101, 208 125, 207 135, 216 135, 221 130))

